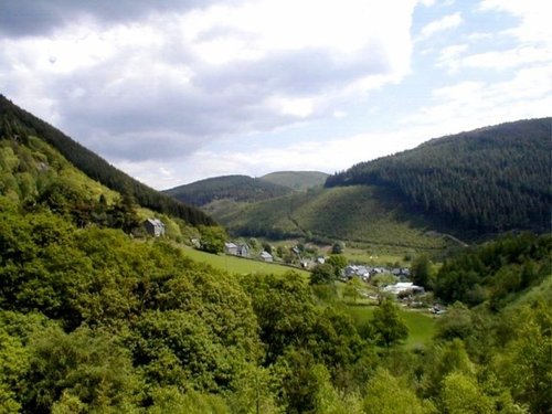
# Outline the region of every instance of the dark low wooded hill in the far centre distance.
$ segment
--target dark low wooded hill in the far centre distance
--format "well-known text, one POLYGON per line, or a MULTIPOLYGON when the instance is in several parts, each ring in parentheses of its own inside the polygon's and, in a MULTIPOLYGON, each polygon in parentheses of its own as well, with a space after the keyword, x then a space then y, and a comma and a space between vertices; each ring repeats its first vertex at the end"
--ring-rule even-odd
POLYGON ((217 200, 257 202, 290 193, 293 190, 247 176, 224 176, 179 185, 164 193, 182 202, 205 206, 217 200))

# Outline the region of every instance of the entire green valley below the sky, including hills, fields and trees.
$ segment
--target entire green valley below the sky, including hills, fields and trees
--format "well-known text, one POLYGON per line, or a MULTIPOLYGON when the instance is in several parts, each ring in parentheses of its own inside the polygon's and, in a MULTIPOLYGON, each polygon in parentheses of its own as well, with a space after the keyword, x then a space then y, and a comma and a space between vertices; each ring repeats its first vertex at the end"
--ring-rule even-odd
POLYGON ((546 413, 546 125, 190 205, 0 97, 0 411, 546 413))

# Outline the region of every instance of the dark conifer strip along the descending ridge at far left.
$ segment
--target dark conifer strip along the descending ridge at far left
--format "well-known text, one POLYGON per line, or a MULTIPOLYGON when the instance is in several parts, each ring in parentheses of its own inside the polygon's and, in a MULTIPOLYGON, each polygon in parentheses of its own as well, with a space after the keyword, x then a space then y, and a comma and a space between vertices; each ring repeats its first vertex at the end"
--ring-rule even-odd
POLYGON ((214 223, 202 211, 184 205, 138 182, 62 131, 19 108, 0 95, 0 138, 15 139, 24 145, 28 142, 29 137, 32 136, 39 137, 56 148, 77 169, 93 180, 97 180, 123 194, 134 197, 142 206, 160 213, 176 215, 192 225, 214 223))

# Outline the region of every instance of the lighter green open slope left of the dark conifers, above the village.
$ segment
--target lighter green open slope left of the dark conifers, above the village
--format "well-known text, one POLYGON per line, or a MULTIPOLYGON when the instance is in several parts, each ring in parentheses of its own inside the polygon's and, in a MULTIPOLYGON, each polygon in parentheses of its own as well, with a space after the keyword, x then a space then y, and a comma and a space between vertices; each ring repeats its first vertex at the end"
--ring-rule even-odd
POLYGON ((253 204, 213 208, 214 217, 233 234, 268 238, 307 237, 386 246, 444 248, 427 234, 423 220, 405 213, 392 193, 354 185, 310 190, 253 204))

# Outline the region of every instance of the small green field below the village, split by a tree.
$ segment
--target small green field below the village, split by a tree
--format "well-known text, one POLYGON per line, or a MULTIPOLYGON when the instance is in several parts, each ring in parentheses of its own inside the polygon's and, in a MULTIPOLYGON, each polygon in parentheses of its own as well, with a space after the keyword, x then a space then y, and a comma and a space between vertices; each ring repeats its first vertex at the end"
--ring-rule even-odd
MULTIPOLYGON (((347 306, 357 325, 363 325, 370 321, 375 309, 374 306, 347 306)), ((401 317, 408 327, 408 339, 406 348, 415 348, 431 341, 435 331, 435 318, 431 315, 417 310, 400 310, 401 317)))

